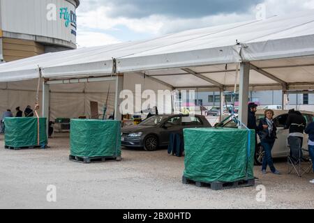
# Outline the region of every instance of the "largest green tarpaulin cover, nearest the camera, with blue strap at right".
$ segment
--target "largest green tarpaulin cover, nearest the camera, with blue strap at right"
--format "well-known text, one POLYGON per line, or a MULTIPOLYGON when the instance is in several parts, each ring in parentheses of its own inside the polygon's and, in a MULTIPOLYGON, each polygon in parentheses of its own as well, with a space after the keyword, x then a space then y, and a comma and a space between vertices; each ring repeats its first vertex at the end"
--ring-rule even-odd
POLYGON ((251 130, 250 157, 246 129, 185 129, 184 144, 184 176, 190 180, 211 183, 254 178, 254 130, 251 130))

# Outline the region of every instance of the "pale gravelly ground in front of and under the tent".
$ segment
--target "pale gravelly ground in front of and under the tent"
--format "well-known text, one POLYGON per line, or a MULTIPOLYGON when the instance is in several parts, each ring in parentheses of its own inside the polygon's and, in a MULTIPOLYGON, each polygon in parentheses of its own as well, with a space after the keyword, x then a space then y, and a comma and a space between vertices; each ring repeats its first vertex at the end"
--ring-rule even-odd
POLYGON ((313 174, 260 174, 266 201, 256 188, 211 191, 182 185, 184 158, 124 150, 122 162, 80 164, 68 161, 68 139, 57 137, 52 148, 8 151, 0 136, 0 208, 314 208, 313 174), (46 200, 47 185, 57 186, 57 202, 46 200))

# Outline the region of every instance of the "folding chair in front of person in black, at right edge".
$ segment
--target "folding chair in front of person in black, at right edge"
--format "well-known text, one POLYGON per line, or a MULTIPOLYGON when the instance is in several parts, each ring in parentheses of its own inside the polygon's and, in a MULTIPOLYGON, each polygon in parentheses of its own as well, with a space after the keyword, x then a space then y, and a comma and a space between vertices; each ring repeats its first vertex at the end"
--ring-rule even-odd
MULTIPOLYGON (((290 148, 290 146, 288 146, 290 148)), ((304 156, 302 157, 302 152, 307 152, 308 150, 301 148, 299 150, 299 157, 297 160, 292 158, 291 155, 288 155, 287 157, 287 171, 288 174, 295 173, 297 176, 302 177, 304 174, 310 174, 313 169, 313 160, 311 160, 311 157, 304 156), (304 158, 308 159, 308 162, 304 162, 304 158), (304 164, 307 164, 306 167, 304 167, 304 164)))

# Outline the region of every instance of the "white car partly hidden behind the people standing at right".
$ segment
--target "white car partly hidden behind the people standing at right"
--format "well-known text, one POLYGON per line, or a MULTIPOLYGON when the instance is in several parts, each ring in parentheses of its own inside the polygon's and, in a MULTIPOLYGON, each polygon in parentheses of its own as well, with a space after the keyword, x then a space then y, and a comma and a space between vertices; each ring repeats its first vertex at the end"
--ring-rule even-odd
MULTIPOLYGON (((314 121, 314 113, 300 111, 301 114, 306 118, 306 123, 311 123, 314 121)), ((274 121, 277 125, 277 137, 274 144, 274 148, 272 150, 273 157, 287 157, 290 154, 289 148, 287 147, 287 137, 289 135, 289 130, 285 130, 285 123, 288 117, 287 110, 274 110, 274 121)), ((257 110, 256 112, 256 120, 257 124, 260 123, 260 119, 264 118, 264 110, 257 110)), ((237 124, 232 120, 227 120, 225 123, 219 123, 218 126, 223 126, 225 128, 237 128, 237 124)), ((307 148, 308 146, 308 135, 304 134, 303 138, 303 147, 307 148)), ((264 156, 264 151, 262 146, 260 145, 260 139, 257 137, 257 148, 255 149, 254 161, 255 164, 261 165, 262 158, 264 156)))

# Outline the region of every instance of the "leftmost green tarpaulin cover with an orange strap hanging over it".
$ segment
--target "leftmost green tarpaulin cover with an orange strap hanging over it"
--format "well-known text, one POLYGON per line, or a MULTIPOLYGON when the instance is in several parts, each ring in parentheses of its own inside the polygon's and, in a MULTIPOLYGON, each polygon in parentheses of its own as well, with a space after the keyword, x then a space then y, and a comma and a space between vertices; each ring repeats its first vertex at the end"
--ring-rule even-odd
POLYGON ((37 118, 5 118, 5 145, 15 148, 47 145, 46 121, 47 118, 39 118, 38 145, 37 118))

